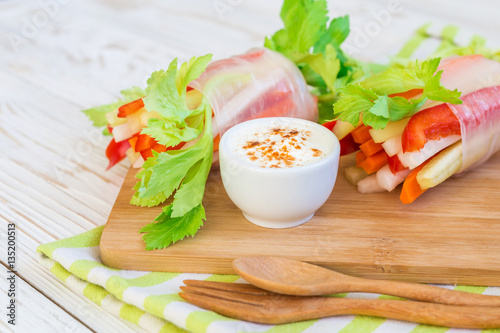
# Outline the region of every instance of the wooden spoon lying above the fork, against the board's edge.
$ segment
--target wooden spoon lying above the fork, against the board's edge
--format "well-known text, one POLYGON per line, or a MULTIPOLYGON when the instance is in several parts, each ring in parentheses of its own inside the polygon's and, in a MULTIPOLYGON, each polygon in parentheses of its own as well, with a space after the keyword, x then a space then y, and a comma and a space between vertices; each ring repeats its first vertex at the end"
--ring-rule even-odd
POLYGON ((286 295, 365 292, 450 305, 500 306, 500 296, 473 294, 418 283, 358 278, 286 258, 239 258, 233 261, 233 269, 259 288, 286 295))

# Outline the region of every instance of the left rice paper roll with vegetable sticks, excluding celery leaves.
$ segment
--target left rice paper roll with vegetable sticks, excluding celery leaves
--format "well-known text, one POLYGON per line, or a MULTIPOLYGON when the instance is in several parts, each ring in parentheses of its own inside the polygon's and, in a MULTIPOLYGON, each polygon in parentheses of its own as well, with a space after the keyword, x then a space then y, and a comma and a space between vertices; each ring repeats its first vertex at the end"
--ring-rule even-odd
MULTIPOLYGON (((214 164, 218 162, 220 136, 238 123, 264 117, 296 117, 312 121, 318 117, 317 103, 297 66, 281 54, 265 48, 211 62, 187 90, 188 109, 199 106, 202 94, 212 107, 214 164)), ((151 118, 158 117, 155 110, 145 107, 142 98, 109 115, 109 129, 114 136, 111 147, 114 149, 108 149, 110 167, 127 155, 132 166, 139 168, 153 156, 153 151, 187 149, 198 142, 199 137, 171 147, 159 144, 142 131, 151 118)))

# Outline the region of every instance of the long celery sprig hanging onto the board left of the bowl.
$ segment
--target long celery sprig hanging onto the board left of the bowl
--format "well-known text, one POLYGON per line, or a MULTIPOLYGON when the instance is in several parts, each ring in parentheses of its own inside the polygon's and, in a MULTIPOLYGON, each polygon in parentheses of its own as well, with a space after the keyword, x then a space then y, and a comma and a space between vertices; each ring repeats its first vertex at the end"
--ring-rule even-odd
POLYGON ((174 60, 166 71, 157 71, 148 80, 144 104, 160 118, 151 118, 141 133, 168 147, 198 139, 186 149, 153 151, 136 175, 140 181, 131 204, 152 207, 173 195, 172 203, 155 222, 141 229, 146 233, 143 239, 148 250, 193 236, 203 225, 202 200, 213 156, 212 109, 203 98, 200 106, 191 110, 185 97, 187 85, 204 72, 210 59, 210 54, 193 57, 180 68, 174 60))

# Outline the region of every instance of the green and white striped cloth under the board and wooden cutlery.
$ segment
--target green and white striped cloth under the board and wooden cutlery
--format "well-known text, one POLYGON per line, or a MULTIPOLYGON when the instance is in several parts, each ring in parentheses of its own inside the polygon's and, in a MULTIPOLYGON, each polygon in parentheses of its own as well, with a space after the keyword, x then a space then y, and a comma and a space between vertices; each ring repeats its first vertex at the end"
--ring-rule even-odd
MULTIPOLYGON (((287 325, 260 325, 230 319, 185 302, 178 293, 186 279, 244 282, 236 275, 139 272, 117 270, 102 264, 99 241, 103 227, 41 245, 40 262, 66 286, 116 316, 149 332, 413 332, 479 333, 367 316, 339 316, 287 325)), ((452 286, 445 286, 453 288, 452 286)), ((457 286, 454 289, 500 295, 500 288, 457 286)), ((373 294, 339 294, 347 298, 388 298, 373 294)), ((500 329, 482 332, 500 333, 500 329)))

